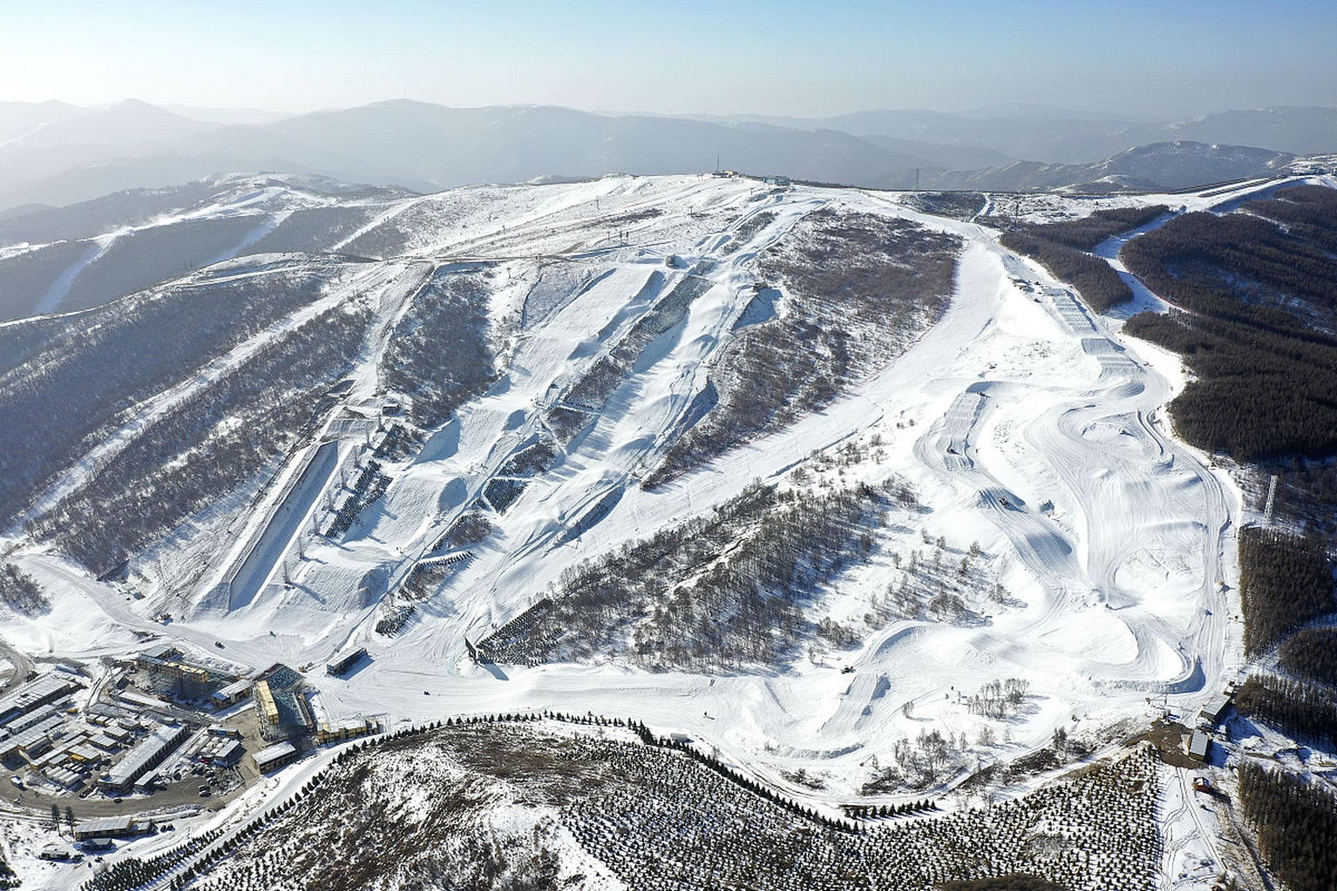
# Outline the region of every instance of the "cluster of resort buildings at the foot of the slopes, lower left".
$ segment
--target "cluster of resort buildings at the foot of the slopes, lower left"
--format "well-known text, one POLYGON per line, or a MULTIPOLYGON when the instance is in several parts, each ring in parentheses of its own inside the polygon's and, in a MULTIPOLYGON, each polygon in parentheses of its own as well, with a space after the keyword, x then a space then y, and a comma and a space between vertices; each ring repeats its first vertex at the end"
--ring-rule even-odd
MULTIPOLYGON (((365 651, 357 651, 345 660, 362 656, 365 651)), ((245 781, 229 772, 247 751, 242 731, 218 721, 225 720, 221 712, 247 699, 257 707, 262 739, 273 743, 254 752, 261 773, 299 757, 303 740, 320 745, 380 731, 376 719, 318 719, 301 675, 286 665, 251 681, 170 645, 116 665, 119 675, 91 697, 88 681, 60 667, 0 699, 0 761, 13 772, 15 787, 70 796, 71 803, 75 793, 87 797, 95 791, 119 800, 195 775, 199 795, 207 797, 218 783, 245 781)), ((143 820, 122 823, 80 824, 75 836, 96 842, 150 830, 143 820)))

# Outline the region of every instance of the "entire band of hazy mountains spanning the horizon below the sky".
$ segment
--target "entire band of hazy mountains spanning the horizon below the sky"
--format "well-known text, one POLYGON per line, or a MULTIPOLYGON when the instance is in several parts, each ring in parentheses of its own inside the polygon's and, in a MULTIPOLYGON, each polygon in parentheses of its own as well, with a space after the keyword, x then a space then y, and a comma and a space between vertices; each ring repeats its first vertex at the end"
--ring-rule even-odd
MULTIPOLYGON (((249 114, 185 111, 217 120, 249 114)), ((0 140, 3 210, 68 204, 238 171, 321 174, 432 191, 610 172, 703 171, 717 158, 749 174, 853 186, 912 187, 916 170, 925 188, 1047 188, 1096 180, 1119 188, 1189 186, 1254 175, 1277 152, 1337 151, 1337 110, 1222 112, 1178 123, 1036 106, 964 115, 866 111, 825 119, 726 120, 394 100, 221 124, 128 100, 102 111, 59 103, 0 106, 0 132, 20 134, 0 140), (1144 162, 1134 163, 1140 155, 1114 162, 1139 146, 1193 142, 1257 146, 1270 154, 1170 156, 1158 148, 1144 162)))

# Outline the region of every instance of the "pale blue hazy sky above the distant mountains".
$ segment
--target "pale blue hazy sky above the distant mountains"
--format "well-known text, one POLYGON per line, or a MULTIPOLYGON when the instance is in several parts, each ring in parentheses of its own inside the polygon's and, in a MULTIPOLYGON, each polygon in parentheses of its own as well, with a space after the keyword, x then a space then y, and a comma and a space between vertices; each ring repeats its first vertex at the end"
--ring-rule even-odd
POLYGON ((1337 3, 0 0, 0 100, 828 115, 1337 102, 1337 3))

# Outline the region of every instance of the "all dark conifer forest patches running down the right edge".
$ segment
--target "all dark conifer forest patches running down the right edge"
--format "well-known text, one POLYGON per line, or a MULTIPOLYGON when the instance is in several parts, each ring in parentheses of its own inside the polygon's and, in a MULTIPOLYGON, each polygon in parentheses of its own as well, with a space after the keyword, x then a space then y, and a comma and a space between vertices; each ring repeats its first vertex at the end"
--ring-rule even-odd
MULTIPOLYGON (((1337 741, 1337 629, 1302 628, 1333 610, 1330 466, 1337 452, 1337 191, 1289 187, 1237 212, 1185 214, 1131 240, 1128 270, 1171 303, 1126 333, 1183 357, 1171 403, 1189 442, 1275 474, 1277 516, 1301 536, 1245 528, 1239 588, 1245 649, 1278 647, 1278 668, 1235 695, 1239 713, 1312 745, 1337 741), (1298 631, 1297 631, 1298 629, 1298 631)), ((1239 799, 1269 867, 1292 891, 1337 876, 1337 797, 1245 761, 1239 799)))

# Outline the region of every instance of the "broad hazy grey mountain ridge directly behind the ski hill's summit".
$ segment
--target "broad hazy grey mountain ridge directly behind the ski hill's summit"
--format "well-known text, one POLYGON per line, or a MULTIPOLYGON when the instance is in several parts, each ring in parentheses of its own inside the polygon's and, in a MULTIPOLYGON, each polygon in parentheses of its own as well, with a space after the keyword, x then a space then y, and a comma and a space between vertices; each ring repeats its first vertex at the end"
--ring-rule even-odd
POLYGON ((725 167, 750 172, 870 182, 925 160, 836 131, 606 118, 551 106, 445 108, 405 100, 230 128, 194 142, 230 154, 356 163, 354 179, 435 188, 543 175, 689 172, 713 168, 717 156, 725 167))

